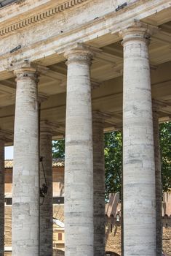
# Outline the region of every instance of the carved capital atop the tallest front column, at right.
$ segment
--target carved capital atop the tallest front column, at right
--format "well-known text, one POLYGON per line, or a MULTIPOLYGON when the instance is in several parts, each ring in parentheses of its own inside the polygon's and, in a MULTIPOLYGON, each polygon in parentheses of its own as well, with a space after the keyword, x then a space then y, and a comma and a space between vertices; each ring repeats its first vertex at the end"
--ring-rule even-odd
POLYGON ((122 45, 124 45, 125 42, 130 40, 138 40, 149 43, 151 35, 157 31, 159 31, 159 29, 156 26, 151 26, 149 24, 140 22, 139 20, 135 20, 122 28, 119 34, 123 39, 122 45))

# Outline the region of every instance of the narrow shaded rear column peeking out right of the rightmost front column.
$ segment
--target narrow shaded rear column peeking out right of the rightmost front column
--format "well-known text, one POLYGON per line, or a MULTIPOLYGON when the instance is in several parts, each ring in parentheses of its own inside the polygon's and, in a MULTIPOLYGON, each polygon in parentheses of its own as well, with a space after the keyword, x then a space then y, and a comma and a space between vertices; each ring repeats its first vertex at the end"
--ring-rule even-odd
POLYGON ((162 173, 159 142, 159 105, 153 101, 154 157, 156 173, 156 256, 162 255, 162 173))

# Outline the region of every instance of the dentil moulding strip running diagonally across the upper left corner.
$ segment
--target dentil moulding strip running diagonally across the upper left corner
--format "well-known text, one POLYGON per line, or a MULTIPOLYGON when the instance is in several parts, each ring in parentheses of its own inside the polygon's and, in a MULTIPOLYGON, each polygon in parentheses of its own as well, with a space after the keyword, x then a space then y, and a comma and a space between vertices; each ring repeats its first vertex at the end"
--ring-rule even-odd
POLYGON ((57 5, 56 7, 51 7, 49 10, 45 10, 40 12, 39 14, 32 15, 31 17, 25 18, 23 20, 19 20, 18 22, 12 23, 9 26, 5 26, 0 29, 0 37, 6 36, 12 32, 15 32, 19 29, 24 29, 27 26, 31 26, 34 23, 40 22, 47 18, 57 15, 59 12, 63 12, 65 10, 71 9, 78 4, 82 4, 87 0, 68 0, 62 4, 57 5))

